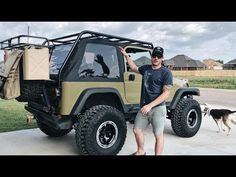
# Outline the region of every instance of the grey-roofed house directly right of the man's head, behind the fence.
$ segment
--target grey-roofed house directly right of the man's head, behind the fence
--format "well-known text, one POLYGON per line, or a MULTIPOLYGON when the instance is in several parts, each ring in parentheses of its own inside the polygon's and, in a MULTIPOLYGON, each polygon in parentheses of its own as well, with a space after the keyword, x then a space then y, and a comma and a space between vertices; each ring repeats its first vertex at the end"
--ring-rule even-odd
POLYGON ((164 64, 171 70, 202 70, 207 68, 201 61, 194 60, 186 55, 176 55, 169 60, 164 60, 164 64))

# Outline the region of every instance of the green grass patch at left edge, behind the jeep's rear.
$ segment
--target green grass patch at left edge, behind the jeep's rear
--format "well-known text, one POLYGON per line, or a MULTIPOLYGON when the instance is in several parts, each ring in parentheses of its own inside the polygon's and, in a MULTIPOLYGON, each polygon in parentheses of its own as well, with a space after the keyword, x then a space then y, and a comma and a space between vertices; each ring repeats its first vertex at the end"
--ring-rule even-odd
POLYGON ((25 103, 16 100, 0 99, 0 132, 37 127, 36 121, 28 124, 26 116, 31 115, 24 109, 25 103))

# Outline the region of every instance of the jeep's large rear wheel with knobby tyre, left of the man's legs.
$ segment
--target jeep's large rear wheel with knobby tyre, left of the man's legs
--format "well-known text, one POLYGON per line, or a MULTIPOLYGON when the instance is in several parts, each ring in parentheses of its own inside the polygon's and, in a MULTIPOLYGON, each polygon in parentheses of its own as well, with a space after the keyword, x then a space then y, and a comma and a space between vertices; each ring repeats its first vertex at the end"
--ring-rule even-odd
POLYGON ((81 155, 116 155, 124 145, 127 125, 119 110, 98 105, 83 114, 75 131, 81 155))

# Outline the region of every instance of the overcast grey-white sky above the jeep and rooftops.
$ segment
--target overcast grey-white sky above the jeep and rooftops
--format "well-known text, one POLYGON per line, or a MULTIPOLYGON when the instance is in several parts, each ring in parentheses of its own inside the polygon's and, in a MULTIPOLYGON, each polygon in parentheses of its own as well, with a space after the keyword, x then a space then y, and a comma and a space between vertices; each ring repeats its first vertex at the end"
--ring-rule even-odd
POLYGON ((27 34, 28 26, 30 35, 47 38, 93 30, 144 40, 162 46, 165 59, 236 59, 236 22, 0 22, 0 41, 27 34))

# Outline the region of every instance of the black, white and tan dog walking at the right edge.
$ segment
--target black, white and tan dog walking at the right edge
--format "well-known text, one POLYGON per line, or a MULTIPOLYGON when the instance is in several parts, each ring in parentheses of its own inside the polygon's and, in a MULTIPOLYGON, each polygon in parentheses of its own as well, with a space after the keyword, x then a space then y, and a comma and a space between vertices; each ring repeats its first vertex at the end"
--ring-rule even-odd
POLYGON ((230 118, 229 115, 235 113, 236 111, 231 111, 229 109, 211 109, 209 104, 205 103, 204 105, 205 105, 203 109, 204 117, 208 115, 214 119, 219 129, 217 131, 218 133, 221 131, 221 129, 225 131, 222 127, 222 122, 223 122, 223 124, 228 128, 227 135, 230 135, 231 127, 229 126, 229 120, 234 124, 236 124, 236 121, 230 118), (221 126, 219 125, 220 122, 221 122, 221 126))

